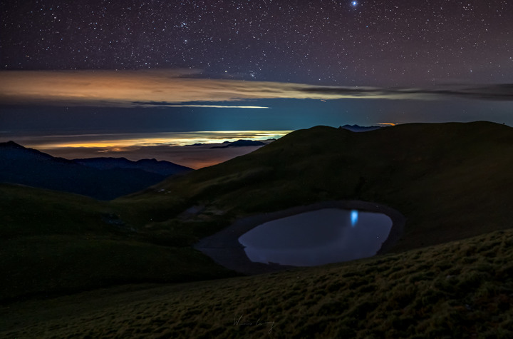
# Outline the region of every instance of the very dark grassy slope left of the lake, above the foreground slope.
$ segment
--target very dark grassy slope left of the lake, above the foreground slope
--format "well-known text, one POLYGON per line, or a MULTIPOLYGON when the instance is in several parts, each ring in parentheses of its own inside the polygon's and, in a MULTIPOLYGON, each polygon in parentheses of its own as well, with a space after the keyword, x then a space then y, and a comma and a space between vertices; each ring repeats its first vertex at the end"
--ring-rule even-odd
POLYGON ((201 253, 105 222, 108 203, 0 185, 0 300, 231 275, 201 253))

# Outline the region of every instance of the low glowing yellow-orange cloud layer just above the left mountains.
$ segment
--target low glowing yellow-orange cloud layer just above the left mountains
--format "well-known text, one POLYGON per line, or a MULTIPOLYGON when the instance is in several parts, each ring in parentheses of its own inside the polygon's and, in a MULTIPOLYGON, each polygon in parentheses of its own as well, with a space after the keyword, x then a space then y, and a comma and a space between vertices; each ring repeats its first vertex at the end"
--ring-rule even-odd
MULTIPOLYGON (((16 142, 63 158, 98 156, 125 157, 133 161, 157 158, 191 168, 222 163, 252 152, 261 146, 212 148, 224 141, 280 138, 290 131, 198 131, 177 133, 86 134, 70 136, 21 136, 16 142)), ((9 139, 0 142, 8 141, 9 139)))

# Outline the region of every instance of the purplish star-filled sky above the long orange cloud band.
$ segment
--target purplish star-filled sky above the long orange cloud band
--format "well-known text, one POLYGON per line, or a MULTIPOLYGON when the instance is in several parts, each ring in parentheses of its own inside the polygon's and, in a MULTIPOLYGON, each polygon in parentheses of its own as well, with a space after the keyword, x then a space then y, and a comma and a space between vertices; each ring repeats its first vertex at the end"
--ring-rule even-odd
POLYGON ((341 86, 513 82, 513 1, 2 1, 0 67, 341 86))

